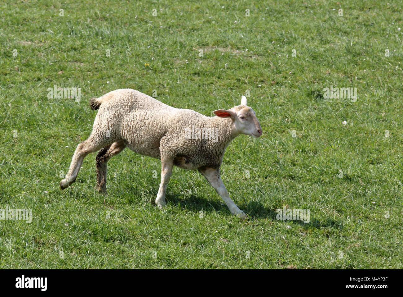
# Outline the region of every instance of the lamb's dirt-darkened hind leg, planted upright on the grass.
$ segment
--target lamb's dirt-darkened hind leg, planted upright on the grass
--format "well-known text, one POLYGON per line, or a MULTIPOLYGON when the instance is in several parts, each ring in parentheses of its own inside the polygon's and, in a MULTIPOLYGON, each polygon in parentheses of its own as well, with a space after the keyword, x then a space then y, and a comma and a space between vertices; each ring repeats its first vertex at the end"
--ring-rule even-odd
POLYGON ((106 170, 107 163, 110 158, 116 156, 125 149, 126 145, 123 141, 116 141, 112 145, 103 147, 97 154, 96 172, 97 172, 97 186, 96 189, 100 193, 106 194, 106 170))

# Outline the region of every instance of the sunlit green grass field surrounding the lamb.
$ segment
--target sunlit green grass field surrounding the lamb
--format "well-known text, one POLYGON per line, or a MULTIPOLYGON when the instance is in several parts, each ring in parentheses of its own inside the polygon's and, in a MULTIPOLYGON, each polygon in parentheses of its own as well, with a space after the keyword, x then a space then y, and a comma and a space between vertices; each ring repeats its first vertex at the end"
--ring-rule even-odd
POLYGON ((339 2, 1 1, 0 208, 33 217, 0 220, 0 268, 403 268, 402 5, 339 2), (129 149, 107 196, 96 154, 60 191, 89 99, 118 88, 208 116, 249 92, 263 136, 221 167, 249 221, 179 168, 160 211, 160 161, 129 149), (277 220, 284 206, 310 223, 277 220))

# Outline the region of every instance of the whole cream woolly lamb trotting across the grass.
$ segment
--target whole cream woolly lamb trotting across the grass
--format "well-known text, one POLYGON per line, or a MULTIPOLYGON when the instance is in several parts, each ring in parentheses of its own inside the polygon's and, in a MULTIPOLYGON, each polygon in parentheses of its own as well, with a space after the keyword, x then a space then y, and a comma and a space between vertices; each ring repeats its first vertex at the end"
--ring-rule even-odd
POLYGON ((198 170, 214 187, 233 215, 247 218, 231 200, 220 177, 220 165, 227 145, 239 134, 262 135, 256 113, 242 96, 241 105, 229 110, 214 110, 214 117, 194 110, 178 109, 132 89, 119 89, 91 99, 98 109, 89 138, 77 145, 69 172, 60 181, 60 189, 77 178, 83 159, 96 156, 96 189, 106 193, 106 165, 125 147, 138 154, 161 160, 161 183, 156 205, 166 205, 165 193, 172 167, 198 170))

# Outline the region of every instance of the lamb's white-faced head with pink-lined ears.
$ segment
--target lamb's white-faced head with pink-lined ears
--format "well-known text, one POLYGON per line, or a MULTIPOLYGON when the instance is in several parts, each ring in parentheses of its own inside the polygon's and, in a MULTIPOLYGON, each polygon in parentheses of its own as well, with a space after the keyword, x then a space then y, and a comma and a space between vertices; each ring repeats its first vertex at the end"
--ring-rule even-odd
POLYGON ((234 121, 235 134, 246 134, 258 138, 262 135, 256 113, 246 105, 246 97, 242 96, 241 105, 229 110, 214 110, 213 114, 220 118, 231 118, 234 121))

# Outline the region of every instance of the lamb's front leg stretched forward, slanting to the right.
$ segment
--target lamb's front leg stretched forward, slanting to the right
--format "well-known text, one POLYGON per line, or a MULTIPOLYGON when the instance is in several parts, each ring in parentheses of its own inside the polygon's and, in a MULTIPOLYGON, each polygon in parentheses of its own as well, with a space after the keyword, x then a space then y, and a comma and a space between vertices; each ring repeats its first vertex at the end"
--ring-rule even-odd
POLYGON ((208 180, 210 185, 212 185, 212 187, 214 187, 214 189, 216 190, 218 195, 220 195, 220 197, 224 200, 225 204, 228 206, 229 211, 231 211, 231 213, 233 215, 236 215, 243 219, 248 218, 246 213, 241 211, 238 208, 238 206, 229 197, 226 187, 221 180, 219 169, 214 169, 214 168, 208 167, 208 168, 199 168, 199 171, 200 171, 200 173, 202 173, 202 175, 204 175, 204 177, 206 177, 206 179, 208 180))

